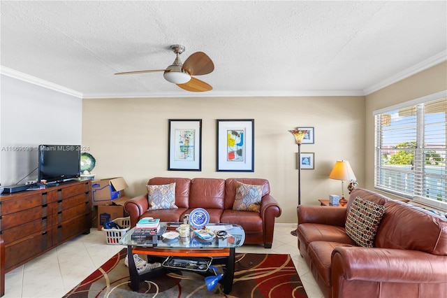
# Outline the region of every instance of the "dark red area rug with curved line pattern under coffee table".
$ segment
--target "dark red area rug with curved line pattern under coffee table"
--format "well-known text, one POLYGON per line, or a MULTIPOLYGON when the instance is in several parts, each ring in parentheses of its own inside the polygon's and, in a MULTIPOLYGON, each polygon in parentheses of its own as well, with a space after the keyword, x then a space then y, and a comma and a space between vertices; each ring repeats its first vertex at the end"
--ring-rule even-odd
POLYGON ((96 297, 307 297, 290 255, 236 254, 233 290, 223 294, 220 284, 207 290, 203 276, 176 271, 140 282, 129 288, 129 269, 124 265, 126 248, 85 278, 64 298, 96 297))

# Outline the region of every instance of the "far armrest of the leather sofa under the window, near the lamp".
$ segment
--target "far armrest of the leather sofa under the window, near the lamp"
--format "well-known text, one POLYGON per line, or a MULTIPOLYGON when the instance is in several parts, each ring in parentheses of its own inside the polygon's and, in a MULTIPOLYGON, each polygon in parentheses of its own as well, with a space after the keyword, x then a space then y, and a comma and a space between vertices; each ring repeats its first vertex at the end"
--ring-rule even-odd
POLYGON ((346 208, 300 205, 297 210, 297 215, 298 225, 302 223, 318 223, 344 227, 346 208))

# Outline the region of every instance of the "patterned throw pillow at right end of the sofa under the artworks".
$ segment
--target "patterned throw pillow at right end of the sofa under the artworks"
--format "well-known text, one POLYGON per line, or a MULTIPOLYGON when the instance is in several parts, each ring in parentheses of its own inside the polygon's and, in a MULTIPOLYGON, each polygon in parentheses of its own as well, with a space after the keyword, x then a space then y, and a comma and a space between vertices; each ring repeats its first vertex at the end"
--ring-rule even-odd
POLYGON ((259 212, 263 195, 262 185, 249 185, 237 182, 233 210, 259 212))

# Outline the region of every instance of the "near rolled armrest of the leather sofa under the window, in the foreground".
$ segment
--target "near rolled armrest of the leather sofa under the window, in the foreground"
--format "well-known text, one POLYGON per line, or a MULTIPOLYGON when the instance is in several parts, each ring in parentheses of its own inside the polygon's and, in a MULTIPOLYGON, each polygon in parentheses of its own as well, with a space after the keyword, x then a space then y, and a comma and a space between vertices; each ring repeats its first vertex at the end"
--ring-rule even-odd
POLYGON ((447 256, 419 250, 337 247, 332 252, 332 285, 344 281, 446 283, 447 256))

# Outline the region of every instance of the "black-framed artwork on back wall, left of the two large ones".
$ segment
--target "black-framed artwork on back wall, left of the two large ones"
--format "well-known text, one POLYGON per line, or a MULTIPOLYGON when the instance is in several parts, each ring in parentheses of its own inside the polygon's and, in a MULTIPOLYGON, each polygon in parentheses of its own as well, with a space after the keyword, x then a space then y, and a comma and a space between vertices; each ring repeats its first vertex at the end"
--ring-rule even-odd
POLYGON ((202 170, 202 119, 170 119, 168 170, 202 170))

